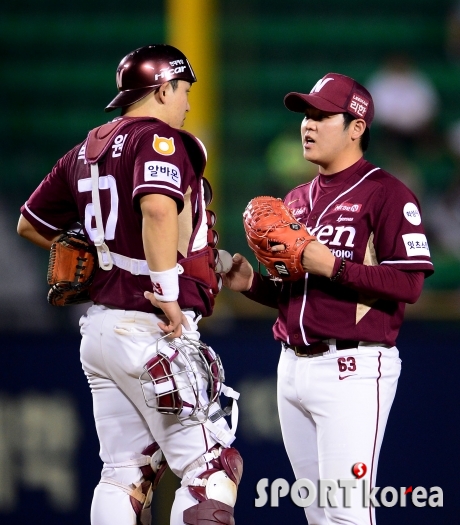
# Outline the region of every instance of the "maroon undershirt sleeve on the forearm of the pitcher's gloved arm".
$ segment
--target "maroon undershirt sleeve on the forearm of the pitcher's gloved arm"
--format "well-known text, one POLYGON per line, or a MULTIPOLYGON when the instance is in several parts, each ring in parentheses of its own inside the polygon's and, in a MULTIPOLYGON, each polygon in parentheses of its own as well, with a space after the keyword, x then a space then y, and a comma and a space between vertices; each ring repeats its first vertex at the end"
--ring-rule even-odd
MULTIPOLYGON (((339 266, 340 259, 334 265, 334 273, 339 266)), ((379 299, 413 304, 422 293, 424 279, 423 271, 404 271, 385 264, 366 266, 347 261, 337 282, 379 299)))

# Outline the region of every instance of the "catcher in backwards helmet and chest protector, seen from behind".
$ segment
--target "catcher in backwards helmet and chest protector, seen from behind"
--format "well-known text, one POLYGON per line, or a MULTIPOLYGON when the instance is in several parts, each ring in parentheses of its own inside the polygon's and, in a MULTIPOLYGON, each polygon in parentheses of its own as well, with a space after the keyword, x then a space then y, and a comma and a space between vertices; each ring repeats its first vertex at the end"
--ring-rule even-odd
POLYGON ((115 77, 106 109, 121 116, 56 162, 18 222, 21 236, 52 246, 50 303, 94 303, 80 318, 103 462, 91 523, 150 525, 167 461, 182 480, 172 524, 234 525, 237 407, 230 427, 218 398, 239 394, 198 330, 233 258, 216 249, 206 148, 182 130, 197 79, 166 44, 131 51, 115 77))

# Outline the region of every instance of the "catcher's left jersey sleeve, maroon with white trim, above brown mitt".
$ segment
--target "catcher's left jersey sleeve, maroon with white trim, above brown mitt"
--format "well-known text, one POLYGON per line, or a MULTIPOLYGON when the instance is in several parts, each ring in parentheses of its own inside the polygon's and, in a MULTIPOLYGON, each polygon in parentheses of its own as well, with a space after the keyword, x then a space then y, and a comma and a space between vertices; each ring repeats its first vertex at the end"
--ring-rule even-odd
POLYGON ((66 179, 68 155, 56 163, 21 207, 22 215, 39 233, 58 233, 79 220, 78 208, 66 179))

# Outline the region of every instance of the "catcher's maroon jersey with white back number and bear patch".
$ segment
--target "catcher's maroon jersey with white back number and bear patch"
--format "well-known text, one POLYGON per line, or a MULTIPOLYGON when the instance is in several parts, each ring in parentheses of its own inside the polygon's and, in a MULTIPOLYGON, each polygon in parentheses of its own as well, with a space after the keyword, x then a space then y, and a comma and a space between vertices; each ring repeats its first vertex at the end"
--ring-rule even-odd
MULTIPOLYGON (((178 260, 207 245, 202 182, 206 157, 203 145, 185 131, 156 119, 123 120, 107 153, 99 160, 99 195, 105 242, 111 252, 145 261, 142 242, 142 195, 160 193, 174 199, 179 212, 178 260)), ((67 230, 76 222, 94 241, 97 234, 86 162, 87 141, 73 148, 54 166, 21 208, 24 217, 45 234, 67 230)), ((212 304, 190 279, 180 278, 179 304, 209 315, 212 304)), ((91 299, 123 310, 157 311, 145 299, 148 275, 133 275, 114 266, 98 269, 91 299)))

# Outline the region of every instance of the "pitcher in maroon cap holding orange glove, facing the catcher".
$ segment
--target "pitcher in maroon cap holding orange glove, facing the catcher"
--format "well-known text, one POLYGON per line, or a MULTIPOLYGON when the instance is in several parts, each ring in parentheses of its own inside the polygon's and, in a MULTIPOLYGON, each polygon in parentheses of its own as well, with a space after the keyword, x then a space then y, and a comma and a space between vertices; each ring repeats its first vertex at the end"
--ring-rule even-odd
POLYGON ((284 103, 303 114, 303 156, 319 172, 284 203, 272 198, 271 214, 267 197, 249 203, 248 243, 269 275, 236 254, 224 284, 278 309, 278 410, 296 478, 357 485, 349 501, 341 493, 336 506, 306 507, 308 523, 374 525, 359 485, 375 486, 404 307, 417 301, 433 265, 416 196, 363 157, 371 94, 329 73, 284 103))

